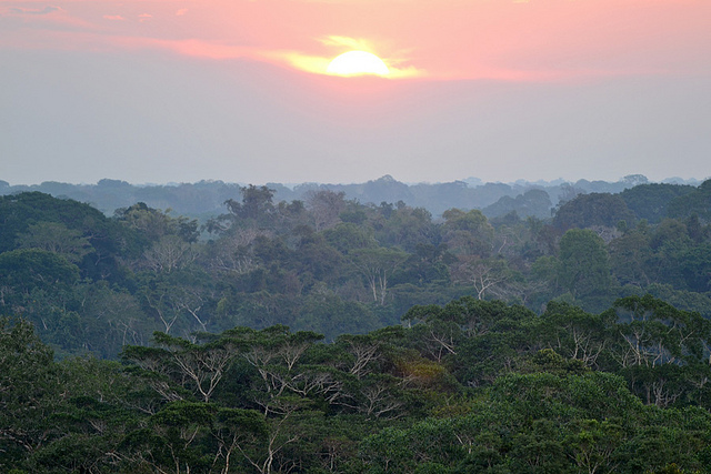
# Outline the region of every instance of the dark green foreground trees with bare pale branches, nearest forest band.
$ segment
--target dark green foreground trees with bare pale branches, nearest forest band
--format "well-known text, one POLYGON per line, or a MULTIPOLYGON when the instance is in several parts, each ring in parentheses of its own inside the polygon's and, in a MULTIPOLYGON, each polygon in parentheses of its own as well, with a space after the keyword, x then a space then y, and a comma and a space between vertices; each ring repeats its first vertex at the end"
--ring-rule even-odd
POLYGON ((543 315, 461 297, 369 334, 157 332, 52 362, 2 320, 0 467, 27 472, 695 472, 711 325, 652 296, 543 315), (638 352, 634 352, 637 350, 638 352), (27 396, 32 394, 32 396, 27 396), (652 397, 650 397, 652 395, 652 397), (671 471, 670 471, 671 470, 671 471), (674 471, 677 470, 677 471, 674 471))

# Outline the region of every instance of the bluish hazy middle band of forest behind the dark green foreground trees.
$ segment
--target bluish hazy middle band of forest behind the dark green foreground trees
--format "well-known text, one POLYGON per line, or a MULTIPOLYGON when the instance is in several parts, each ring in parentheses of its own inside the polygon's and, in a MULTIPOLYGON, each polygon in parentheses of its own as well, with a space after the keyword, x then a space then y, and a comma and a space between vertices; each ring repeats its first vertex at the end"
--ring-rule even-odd
MULTIPOLYGON (((438 221, 402 201, 363 205, 328 190, 306 203, 274 202, 274 189, 283 191, 247 186, 239 201, 224 194, 229 212, 206 228, 220 230, 208 242, 198 240, 197 221, 142 202, 107 219, 41 193, 4 196, 0 311, 34 322, 60 356, 107 357, 146 344, 156 330, 188 336, 286 324, 330 341, 469 294, 538 312, 551 300, 600 312, 618 296, 652 292, 709 314, 711 232, 699 214, 618 225, 620 196, 589 194, 558 214, 580 208, 590 220, 577 225, 593 229, 561 239, 534 218, 489 222, 480 211, 450 209, 438 221)), ((524 195, 543 196, 534 191, 524 195)), ((628 194, 667 202, 678 191, 628 194)))

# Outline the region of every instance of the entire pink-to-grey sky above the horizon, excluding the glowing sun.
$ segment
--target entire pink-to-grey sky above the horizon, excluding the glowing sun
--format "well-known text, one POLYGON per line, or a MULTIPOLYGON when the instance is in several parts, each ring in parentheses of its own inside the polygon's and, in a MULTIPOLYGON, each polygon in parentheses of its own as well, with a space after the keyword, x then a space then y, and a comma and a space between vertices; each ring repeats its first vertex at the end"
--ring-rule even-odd
POLYGON ((709 0, 0 0, 0 180, 711 175, 709 0), (388 75, 327 73, 375 54, 388 75))

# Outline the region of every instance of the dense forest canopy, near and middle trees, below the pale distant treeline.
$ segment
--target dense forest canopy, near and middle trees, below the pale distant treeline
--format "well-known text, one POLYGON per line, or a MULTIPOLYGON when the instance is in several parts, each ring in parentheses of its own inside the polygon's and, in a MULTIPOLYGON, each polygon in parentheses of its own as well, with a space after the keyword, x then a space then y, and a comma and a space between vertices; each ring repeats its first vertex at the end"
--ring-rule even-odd
POLYGON ((2 470, 711 470, 711 181, 238 192, 0 198, 2 470))

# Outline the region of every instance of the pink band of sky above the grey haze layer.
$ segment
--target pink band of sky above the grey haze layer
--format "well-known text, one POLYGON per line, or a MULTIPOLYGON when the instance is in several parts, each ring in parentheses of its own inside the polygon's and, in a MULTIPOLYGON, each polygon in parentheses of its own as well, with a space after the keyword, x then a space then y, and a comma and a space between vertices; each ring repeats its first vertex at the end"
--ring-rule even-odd
POLYGON ((438 80, 711 72, 708 0, 3 0, 0 14, 3 48, 160 49, 287 68, 369 49, 438 80))

